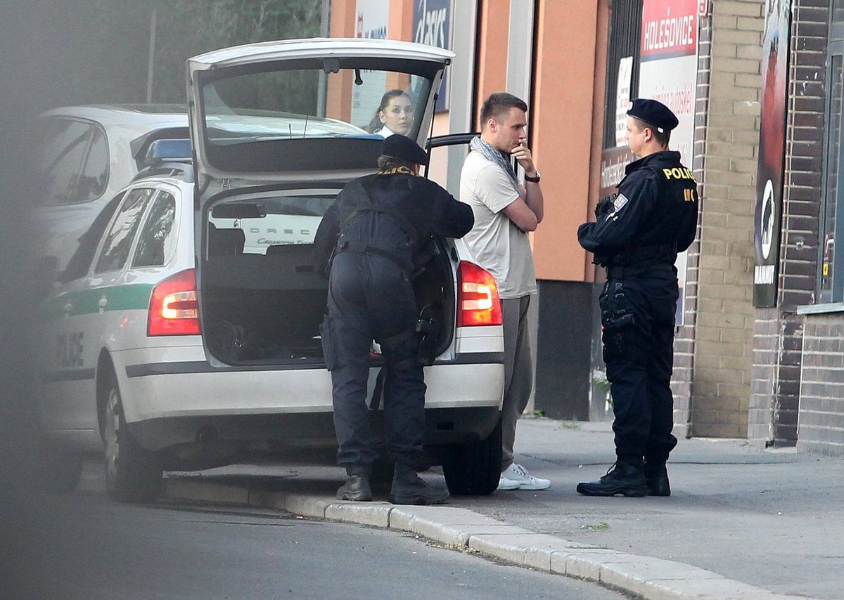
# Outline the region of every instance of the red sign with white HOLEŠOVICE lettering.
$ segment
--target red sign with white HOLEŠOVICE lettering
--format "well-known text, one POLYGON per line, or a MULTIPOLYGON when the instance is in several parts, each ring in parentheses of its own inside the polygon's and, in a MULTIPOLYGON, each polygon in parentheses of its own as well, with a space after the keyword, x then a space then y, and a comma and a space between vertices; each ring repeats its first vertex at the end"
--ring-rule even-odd
POLYGON ((641 18, 641 60, 694 56, 700 0, 645 0, 641 18))

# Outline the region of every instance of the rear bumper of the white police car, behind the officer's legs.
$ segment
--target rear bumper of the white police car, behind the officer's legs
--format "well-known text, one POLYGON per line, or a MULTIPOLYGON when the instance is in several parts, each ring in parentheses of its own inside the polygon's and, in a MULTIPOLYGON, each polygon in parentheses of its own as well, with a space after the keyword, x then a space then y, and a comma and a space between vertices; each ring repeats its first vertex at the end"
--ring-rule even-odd
MULTIPOLYGON (((198 360, 143 362, 146 357, 135 351, 113 355, 127 426, 144 447, 336 444, 331 375, 324 367, 216 368, 198 360)), ((378 371, 370 371, 370 397, 378 371)), ((500 353, 466 354, 425 367, 425 383, 427 444, 478 441, 495 427, 504 388, 500 353)), ((372 419, 377 443, 381 411, 372 411, 372 419)))

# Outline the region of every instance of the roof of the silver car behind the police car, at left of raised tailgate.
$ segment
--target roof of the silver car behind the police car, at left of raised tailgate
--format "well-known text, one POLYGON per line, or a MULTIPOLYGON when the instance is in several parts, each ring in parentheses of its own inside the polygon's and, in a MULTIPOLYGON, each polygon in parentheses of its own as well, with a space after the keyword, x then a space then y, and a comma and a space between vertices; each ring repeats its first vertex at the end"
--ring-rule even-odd
POLYGON ((41 113, 97 121, 103 126, 187 126, 187 107, 183 104, 87 104, 63 106, 41 113))

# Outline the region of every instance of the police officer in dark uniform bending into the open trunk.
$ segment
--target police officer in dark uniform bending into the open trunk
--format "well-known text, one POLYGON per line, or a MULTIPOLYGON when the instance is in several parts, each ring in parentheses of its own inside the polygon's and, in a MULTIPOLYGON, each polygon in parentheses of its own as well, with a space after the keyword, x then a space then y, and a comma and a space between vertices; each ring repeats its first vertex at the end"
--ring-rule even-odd
POLYGON ((317 230, 317 261, 333 247, 322 349, 333 383, 338 463, 348 476, 339 500, 372 500, 369 477, 378 456, 366 406, 372 340, 386 362, 384 429, 395 462, 390 501, 441 504, 448 498, 416 474, 424 459, 425 380, 411 276, 432 233, 460 238, 474 219, 469 206, 418 176, 419 164, 427 163, 408 137, 387 137, 380 170, 346 185, 317 230))

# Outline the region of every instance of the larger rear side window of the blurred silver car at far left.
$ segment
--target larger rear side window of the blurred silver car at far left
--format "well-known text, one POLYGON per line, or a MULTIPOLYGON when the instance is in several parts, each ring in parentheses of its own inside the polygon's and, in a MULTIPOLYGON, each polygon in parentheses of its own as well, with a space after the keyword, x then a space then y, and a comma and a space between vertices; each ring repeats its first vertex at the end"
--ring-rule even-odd
POLYGON ((95 127, 81 121, 57 120, 50 127, 41 153, 43 203, 72 204, 78 199, 78 181, 95 127))

